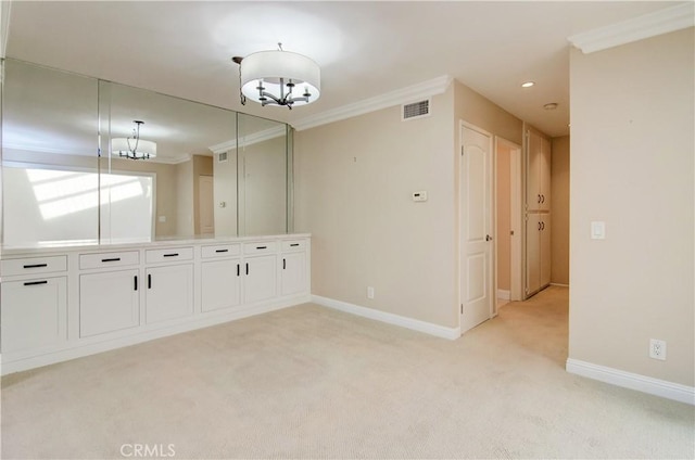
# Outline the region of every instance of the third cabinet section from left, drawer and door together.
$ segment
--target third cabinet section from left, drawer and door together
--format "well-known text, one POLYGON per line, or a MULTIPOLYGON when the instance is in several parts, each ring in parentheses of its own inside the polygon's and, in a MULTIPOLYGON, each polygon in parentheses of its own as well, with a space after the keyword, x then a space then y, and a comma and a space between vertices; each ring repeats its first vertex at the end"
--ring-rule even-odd
POLYGON ((153 324, 193 314, 192 247, 172 247, 146 251, 146 261, 169 263, 146 269, 146 323, 153 324), (175 261, 175 263, 174 263, 175 261))

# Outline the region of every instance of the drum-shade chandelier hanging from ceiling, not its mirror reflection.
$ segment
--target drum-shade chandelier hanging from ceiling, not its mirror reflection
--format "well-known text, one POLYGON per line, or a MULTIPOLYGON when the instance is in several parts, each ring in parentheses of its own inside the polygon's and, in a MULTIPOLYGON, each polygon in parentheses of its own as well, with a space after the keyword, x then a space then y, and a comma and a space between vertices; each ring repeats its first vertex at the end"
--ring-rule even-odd
POLYGON ((283 105, 292 110, 306 105, 320 95, 320 68, 311 59, 282 50, 260 51, 245 58, 231 59, 239 64, 241 104, 247 99, 261 105, 283 105))

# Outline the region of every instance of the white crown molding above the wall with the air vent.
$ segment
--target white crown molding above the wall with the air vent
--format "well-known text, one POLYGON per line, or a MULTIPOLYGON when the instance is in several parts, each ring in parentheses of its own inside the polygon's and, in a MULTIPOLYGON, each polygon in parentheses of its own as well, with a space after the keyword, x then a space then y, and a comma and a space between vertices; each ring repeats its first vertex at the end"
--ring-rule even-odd
POLYGON ((376 112, 381 108, 400 105, 420 98, 430 98, 432 95, 442 94, 451 85, 453 78, 448 75, 422 81, 406 88, 401 88, 391 92, 387 92, 375 98, 365 99, 363 101, 353 102, 341 107, 321 112, 300 118, 292 124, 298 131, 308 128, 315 128, 320 125, 327 125, 341 119, 351 118, 369 112, 376 112))

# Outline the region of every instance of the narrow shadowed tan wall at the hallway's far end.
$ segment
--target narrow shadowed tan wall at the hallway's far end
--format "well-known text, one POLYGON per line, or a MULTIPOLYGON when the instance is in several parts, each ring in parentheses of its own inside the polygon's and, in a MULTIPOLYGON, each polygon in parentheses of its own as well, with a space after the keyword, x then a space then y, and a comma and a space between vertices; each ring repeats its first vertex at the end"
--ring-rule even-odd
POLYGON ((551 282, 569 284, 569 136, 553 139, 551 282))

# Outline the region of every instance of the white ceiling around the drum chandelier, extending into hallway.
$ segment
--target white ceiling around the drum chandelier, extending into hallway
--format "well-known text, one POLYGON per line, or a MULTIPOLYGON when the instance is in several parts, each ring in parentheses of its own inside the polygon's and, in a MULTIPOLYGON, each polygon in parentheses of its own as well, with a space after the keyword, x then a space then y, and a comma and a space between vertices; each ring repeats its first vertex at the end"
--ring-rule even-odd
POLYGON ((569 132, 567 38, 679 3, 14 1, 7 56, 289 124, 448 75, 555 137, 569 132), (319 101, 241 106, 231 56, 278 42, 319 64, 319 101))

